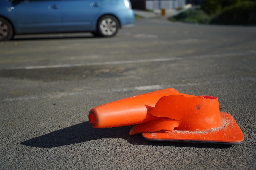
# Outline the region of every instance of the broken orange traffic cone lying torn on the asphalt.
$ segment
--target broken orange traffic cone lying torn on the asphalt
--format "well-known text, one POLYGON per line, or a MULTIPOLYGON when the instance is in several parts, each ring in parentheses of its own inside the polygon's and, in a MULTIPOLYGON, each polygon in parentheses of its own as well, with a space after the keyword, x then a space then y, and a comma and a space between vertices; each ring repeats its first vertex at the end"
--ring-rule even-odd
POLYGON ((217 97, 157 90, 97 106, 89 111, 95 128, 135 125, 129 135, 146 140, 238 144, 244 135, 233 117, 219 111, 217 97))

